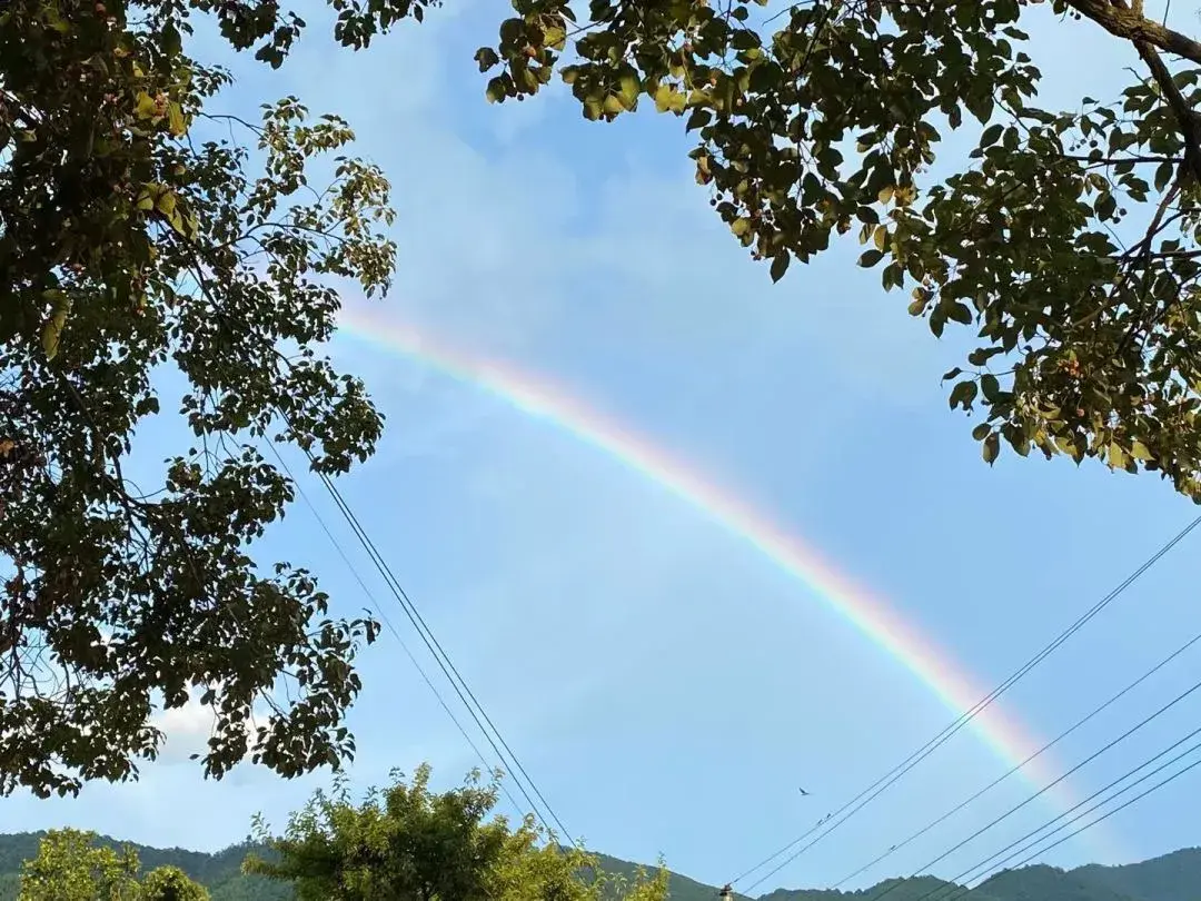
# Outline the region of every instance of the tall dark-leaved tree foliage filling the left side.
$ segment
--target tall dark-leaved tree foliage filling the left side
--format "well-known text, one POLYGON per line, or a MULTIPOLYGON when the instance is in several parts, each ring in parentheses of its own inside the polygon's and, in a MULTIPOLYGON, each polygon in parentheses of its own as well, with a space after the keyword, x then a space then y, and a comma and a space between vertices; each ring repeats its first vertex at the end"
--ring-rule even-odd
MULTIPOLYGON (((331 5, 348 48, 420 18, 331 5)), ((353 753, 352 662, 377 625, 331 619, 303 567, 249 548, 293 496, 264 441, 336 476, 380 436, 321 347, 341 282, 389 286, 389 185, 294 97, 216 113, 229 76, 187 55, 196 16, 273 66, 303 26, 275 2, 0 6, 0 793, 135 776, 155 705, 193 690, 208 775, 353 753), (183 437, 159 466, 165 408, 183 437)))

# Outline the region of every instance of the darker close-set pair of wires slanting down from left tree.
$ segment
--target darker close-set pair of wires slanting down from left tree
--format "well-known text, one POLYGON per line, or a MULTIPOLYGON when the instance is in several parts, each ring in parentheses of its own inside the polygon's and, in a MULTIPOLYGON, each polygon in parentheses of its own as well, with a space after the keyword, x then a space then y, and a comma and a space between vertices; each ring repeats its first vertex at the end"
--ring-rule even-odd
MULTIPOLYGON (((285 423, 291 425, 291 423, 288 423, 287 416, 283 414, 282 411, 277 412, 280 412, 280 416, 281 418, 283 418, 285 423)), ((312 452, 309 449, 305 449, 304 452, 305 455, 309 458, 310 464, 311 465, 315 464, 316 460, 312 455, 312 452)), ((488 715, 488 711, 484 710, 483 705, 479 703, 479 699, 476 697, 474 692, 471 691, 471 687, 467 685, 466 680, 459 673, 459 669, 454 666, 454 662, 450 660, 449 655, 442 648, 442 644, 438 642, 432 629, 430 629, 429 623, 425 622, 425 619, 422 616, 420 610, 418 610, 417 605, 413 604, 412 599, 408 597, 408 593, 400 584, 400 580, 396 578, 395 573, 393 573, 392 568, 388 566, 388 562, 383 559, 383 555, 380 553, 380 549, 376 547, 375 542, 371 541, 371 536, 368 535, 366 530, 363 527, 363 524, 359 521, 359 518, 355 515, 354 511, 346 502, 346 499, 342 497, 342 493, 337 489, 337 487, 333 483, 333 479, 330 479, 328 475, 321 472, 315 465, 312 465, 311 469, 321 479, 322 484, 325 488, 325 491, 334 500, 334 503, 337 507, 339 512, 342 514, 342 518, 346 519, 347 524, 351 526, 351 530, 354 532, 354 537, 358 538, 359 544, 363 545, 363 549, 366 550, 368 556, 371 557, 371 562, 375 565, 376 569, 383 577, 384 583, 388 585, 389 591, 392 591, 393 597, 396 599, 396 603, 400 604, 401 609, 405 611, 405 616, 412 623, 413 628, 417 629, 418 636, 420 636, 422 642, 425 644, 426 649, 434 656, 435 661, 437 661, 438 668, 442 670, 443 675, 446 675, 447 680, 450 682, 450 686, 454 688, 455 694, 459 696, 459 699, 462 702, 464 706, 467 708, 467 711, 471 714, 471 717, 476 721, 476 724, 479 727, 479 730, 484 734, 484 738, 488 740, 488 744, 491 745, 492 751, 496 753, 497 757, 501 758, 502 762, 507 759, 513 762, 514 766, 516 768, 516 771, 520 772, 525 777, 525 780, 530 783, 530 788, 533 790, 538 800, 542 801, 543 806, 546 810, 546 813, 555 822, 555 825, 558 827, 560 835, 562 835, 568 841, 568 843, 574 845, 574 840, 572 839, 570 833, 568 833, 567 828, 563 825, 563 822, 555 813, 554 808, 543 796, 542 792, 538 790, 537 783, 534 783, 534 781, 530 777, 530 774, 526 771, 525 766, 521 765, 521 762, 518 759, 518 756, 513 752, 513 748, 509 747, 508 742, 504 740, 504 736, 501 735, 500 729, 496 728, 496 723, 492 722, 491 717, 488 715), (483 720, 480 717, 483 717, 483 720), (485 728, 484 726, 485 723, 491 729, 491 732, 489 732, 489 728, 485 728), (500 742, 500 745, 497 745, 497 742, 500 742), (506 758, 504 753, 501 751, 502 747, 504 748, 504 751, 508 752, 508 758, 506 758)), ((538 819, 542 821, 543 827, 548 831, 550 831, 550 824, 546 822, 545 817, 543 817, 542 811, 534 802, 533 798, 530 796, 530 792, 526 790, 526 787, 521 783, 520 780, 514 778, 514 781, 516 782, 518 789, 521 792, 522 798, 525 798, 526 802, 530 805, 530 808, 534 812, 538 819)))

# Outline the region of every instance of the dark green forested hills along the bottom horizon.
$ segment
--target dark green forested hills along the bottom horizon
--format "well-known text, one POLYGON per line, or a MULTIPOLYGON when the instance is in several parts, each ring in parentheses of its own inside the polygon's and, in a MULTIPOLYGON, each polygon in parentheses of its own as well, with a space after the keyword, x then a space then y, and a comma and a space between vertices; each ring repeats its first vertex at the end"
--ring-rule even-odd
MULTIPOLYGON (((0 835, 0 901, 16 901, 18 873, 23 860, 37 853, 38 833, 0 835)), ((110 840, 106 840, 110 841, 110 840)), ((116 842, 113 842, 114 845, 116 842)), ((292 893, 282 885, 241 875, 240 866, 249 851, 243 843, 217 854, 203 854, 181 848, 148 848, 135 845, 145 870, 173 865, 205 885, 213 901, 291 901, 292 893)), ((638 867, 626 860, 598 855, 600 866, 614 873, 633 873, 638 867)), ((820 889, 778 889, 759 901, 872 901, 888 889, 889 901, 918 901, 939 885, 945 890, 927 901, 1201 901, 1201 848, 1185 848, 1161 858, 1125 866, 1082 866, 1057 870, 1029 866, 994 876, 968 893, 932 877, 902 879, 892 888, 890 879, 860 891, 820 889)), ((716 901, 717 888, 671 875, 671 901, 716 901)))

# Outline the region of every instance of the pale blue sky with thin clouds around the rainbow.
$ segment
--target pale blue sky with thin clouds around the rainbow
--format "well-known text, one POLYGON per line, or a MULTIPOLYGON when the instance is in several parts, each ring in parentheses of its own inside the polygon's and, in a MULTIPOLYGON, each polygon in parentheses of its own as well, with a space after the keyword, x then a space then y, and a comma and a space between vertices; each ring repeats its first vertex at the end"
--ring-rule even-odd
MULTIPOLYGON (((689 460, 886 597, 984 686, 1194 515, 1152 477, 1011 457, 984 466, 938 383, 957 345, 932 339, 902 297, 854 269, 853 244, 773 287, 692 183, 677 121, 588 124, 561 89, 486 105, 471 52, 498 14, 456 4, 354 55, 331 47, 316 13, 281 72, 237 64, 247 74, 229 107, 298 94, 346 115, 359 153, 390 175, 400 258, 381 316, 566 386, 689 460)), ((1122 86, 1130 60, 1091 26, 1032 19, 1047 106, 1122 86)), ((369 380, 389 422, 378 455, 342 491, 556 812, 594 849, 663 853, 719 884, 950 718, 803 585, 653 483, 413 360, 345 339, 334 354, 369 380)), ((386 598, 316 483, 305 488, 386 598)), ((1050 738, 1201 628, 1189 597, 1197 541, 1010 691, 1009 714, 1050 738)), ((347 611, 366 603, 303 505, 261 554, 310 565, 347 611)), ((417 646, 400 611, 388 613, 417 646)), ((1173 697, 1196 668, 1191 655, 1142 686, 1058 747, 1052 769, 1173 697)), ((355 783, 430 760, 449 784, 478 763, 390 636, 363 673, 355 783)), ((1083 769, 1072 790, 1087 795, 1188 732, 1199 704, 1083 769)), ((244 836, 255 812, 281 823, 327 781, 249 766, 203 781, 186 759, 203 740, 191 712, 167 721, 167 752, 139 783, 91 786, 70 801, 6 799, 0 830, 70 824, 215 849, 244 836)), ((836 882, 1005 769, 963 732, 761 888, 836 882)), ((1048 860, 1118 863, 1195 842, 1185 824, 1199 778, 1048 860)), ((1032 790, 1009 780, 860 884, 908 875, 1032 790)), ((936 872, 954 876, 1057 812, 1032 804, 936 872)))

